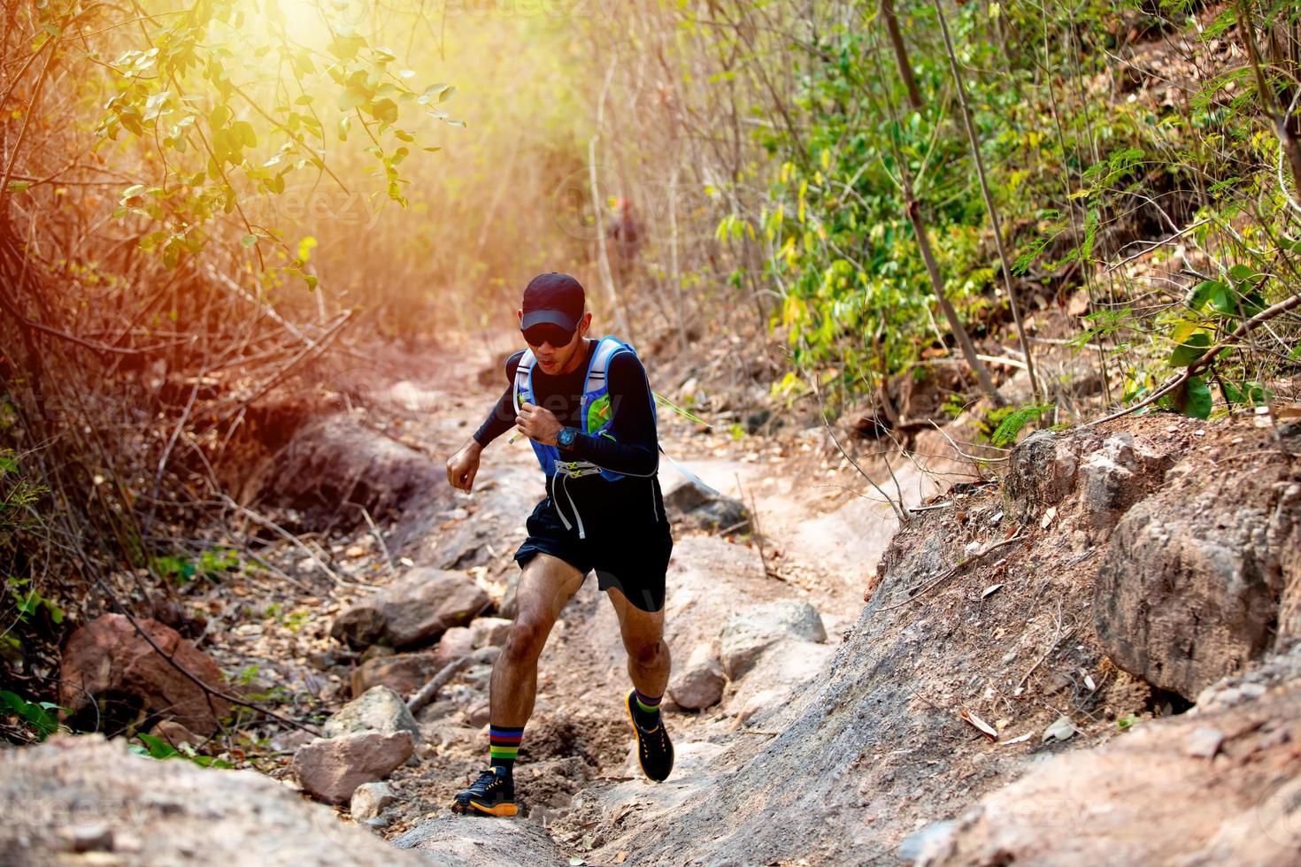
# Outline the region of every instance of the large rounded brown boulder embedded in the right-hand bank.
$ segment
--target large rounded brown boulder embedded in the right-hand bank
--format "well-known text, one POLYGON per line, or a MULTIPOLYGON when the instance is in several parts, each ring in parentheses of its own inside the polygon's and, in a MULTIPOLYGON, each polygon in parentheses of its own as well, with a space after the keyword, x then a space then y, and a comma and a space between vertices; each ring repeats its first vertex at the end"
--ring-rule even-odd
POLYGON ((1301 581, 1301 481, 1284 463, 1216 474, 1180 474, 1125 513, 1094 602, 1116 664, 1189 699, 1270 646, 1301 581))

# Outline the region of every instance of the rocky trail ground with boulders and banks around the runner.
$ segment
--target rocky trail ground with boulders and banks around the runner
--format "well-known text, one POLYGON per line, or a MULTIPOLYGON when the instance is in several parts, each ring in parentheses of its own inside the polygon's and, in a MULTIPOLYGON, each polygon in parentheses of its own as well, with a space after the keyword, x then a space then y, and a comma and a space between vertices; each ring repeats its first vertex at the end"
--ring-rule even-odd
POLYGON ((103 697, 134 693, 137 723, 165 707, 156 734, 224 742, 260 773, 94 737, 10 751, 0 859, 1294 863, 1301 432, 1253 417, 1034 433, 1002 484, 864 456, 917 507, 900 528, 821 429, 732 438, 661 413, 669 454, 725 493, 701 502, 664 461, 673 776, 639 772, 617 621, 589 578, 540 663, 522 815, 453 816, 484 766, 511 555, 543 495, 523 442, 485 451, 471 495, 444 477, 494 370, 484 354, 340 386, 342 411, 247 482, 268 568, 195 582, 152 627, 246 701, 324 725, 234 708, 208 741, 225 708, 146 671, 156 654, 107 615, 69 646, 85 673, 65 706, 111 732, 103 697), (332 503, 358 515, 323 523, 332 503))

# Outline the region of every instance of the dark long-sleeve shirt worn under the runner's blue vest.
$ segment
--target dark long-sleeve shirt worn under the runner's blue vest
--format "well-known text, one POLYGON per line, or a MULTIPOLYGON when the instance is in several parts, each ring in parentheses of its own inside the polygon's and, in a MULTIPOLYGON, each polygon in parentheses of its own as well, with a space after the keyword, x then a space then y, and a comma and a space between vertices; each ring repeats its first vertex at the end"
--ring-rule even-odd
MULTIPOLYGON (((583 398, 588 359, 595 346, 596 342, 592 341, 587 346, 583 361, 569 373, 548 376, 537 368, 533 369, 535 406, 549 409, 562 425, 580 432, 587 430, 587 424, 579 419, 579 403, 583 398)), ((506 391, 474 434, 480 446, 487 446, 515 426, 515 370, 523 355, 524 351, 520 350, 506 359, 506 391)), ((660 441, 650 403, 650 385, 641 361, 631 352, 617 354, 610 359, 606 383, 613 411, 610 434, 614 439, 580 433, 574 441, 574 447, 563 454, 572 460, 589 460, 610 472, 649 476, 660 465, 660 441)))

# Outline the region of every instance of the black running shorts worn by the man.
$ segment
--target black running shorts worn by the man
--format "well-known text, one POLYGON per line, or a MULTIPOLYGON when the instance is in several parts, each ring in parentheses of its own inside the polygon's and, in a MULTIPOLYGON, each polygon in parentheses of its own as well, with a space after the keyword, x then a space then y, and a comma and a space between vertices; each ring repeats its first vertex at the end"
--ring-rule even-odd
MULTIPOLYGON (((649 521, 649 516, 630 515, 628 508, 583 508, 587 538, 578 537, 578 525, 570 519, 565 529, 556 504, 546 497, 533 507, 526 526, 528 538, 515 551, 520 568, 535 554, 550 554, 572 565, 587 577, 595 571, 601 590, 617 589, 641 611, 664 608, 665 572, 673 554, 673 534, 666 520, 649 521)), ((650 511, 649 507, 645 511, 650 511)), ((661 512, 662 516, 662 512, 661 512)))

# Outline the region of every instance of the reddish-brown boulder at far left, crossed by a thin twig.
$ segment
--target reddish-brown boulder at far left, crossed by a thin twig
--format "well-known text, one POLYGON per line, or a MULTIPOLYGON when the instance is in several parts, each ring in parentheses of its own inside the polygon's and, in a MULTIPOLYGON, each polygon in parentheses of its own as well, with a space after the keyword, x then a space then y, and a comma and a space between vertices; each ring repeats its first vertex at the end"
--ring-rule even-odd
MULTIPOLYGON (((141 628, 178 666, 225 692, 217 664, 194 645, 156 620, 141 628)), ((134 721, 138 710, 168 716, 198 734, 217 731, 217 719, 230 712, 220 698, 209 699, 193 680, 177 671, 120 614, 105 614, 78 628, 68 640, 60 663, 59 703, 79 727, 114 732, 134 721), (104 701, 104 716, 96 712, 104 701)))

